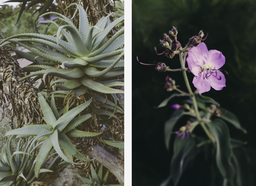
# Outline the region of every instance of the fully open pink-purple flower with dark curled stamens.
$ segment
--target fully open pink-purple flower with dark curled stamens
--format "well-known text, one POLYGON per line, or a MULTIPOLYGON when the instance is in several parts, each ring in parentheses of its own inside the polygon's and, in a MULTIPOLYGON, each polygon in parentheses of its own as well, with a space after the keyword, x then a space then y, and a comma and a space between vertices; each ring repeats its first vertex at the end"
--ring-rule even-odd
POLYGON ((218 69, 225 64, 225 57, 220 51, 209 50, 204 43, 193 47, 188 52, 187 64, 189 70, 195 75, 193 84, 199 94, 226 87, 224 74, 218 69))

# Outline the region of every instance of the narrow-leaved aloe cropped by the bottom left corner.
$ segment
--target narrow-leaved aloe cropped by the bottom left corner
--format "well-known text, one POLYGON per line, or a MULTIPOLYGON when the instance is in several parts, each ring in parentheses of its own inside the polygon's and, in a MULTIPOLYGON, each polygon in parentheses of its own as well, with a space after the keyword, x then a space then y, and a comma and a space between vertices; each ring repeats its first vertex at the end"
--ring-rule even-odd
MULTIPOLYGON (((23 140, 19 140, 17 143, 16 151, 13 152, 11 146, 11 137, 6 140, 5 146, 0 154, 0 185, 3 186, 25 186, 33 181, 40 180, 45 176, 46 172, 53 172, 50 170, 55 161, 59 158, 56 156, 47 169, 40 169, 42 174, 38 178, 34 175, 36 150, 41 143, 32 143, 32 139, 29 139, 25 144, 23 140), (24 147, 25 146, 25 147, 24 147), (23 150, 24 149, 24 150, 23 150)), ((46 162, 52 158, 55 154, 48 156, 42 163, 43 167, 46 166, 46 162)))

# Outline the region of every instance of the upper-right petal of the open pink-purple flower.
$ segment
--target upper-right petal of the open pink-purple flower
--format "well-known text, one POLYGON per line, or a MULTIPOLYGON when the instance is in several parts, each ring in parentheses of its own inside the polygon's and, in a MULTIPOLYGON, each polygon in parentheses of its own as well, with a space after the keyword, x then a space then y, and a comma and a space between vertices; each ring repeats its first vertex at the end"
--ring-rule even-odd
POLYGON ((208 54, 206 63, 211 65, 214 69, 219 69, 225 64, 225 57, 222 52, 218 50, 209 50, 208 54))

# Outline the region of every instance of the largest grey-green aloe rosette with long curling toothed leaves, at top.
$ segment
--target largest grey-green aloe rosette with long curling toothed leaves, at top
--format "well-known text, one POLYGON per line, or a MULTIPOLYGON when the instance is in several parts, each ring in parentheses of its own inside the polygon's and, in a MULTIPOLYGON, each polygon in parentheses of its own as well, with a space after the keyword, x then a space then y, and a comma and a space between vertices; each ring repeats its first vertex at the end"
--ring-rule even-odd
POLYGON ((57 20, 65 24, 43 21, 48 24, 44 25, 45 33, 50 25, 58 28, 56 36, 18 34, 4 39, 0 47, 15 43, 29 50, 16 50, 17 55, 34 62, 24 68, 30 74, 20 80, 33 76, 41 78, 43 75, 43 82, 47 83, 46 77, 52 75, 62 78, 52 82, 55 87, 73 90, 77 96, 83 95, 88 89, 105 94, 124 93, 117 88, 124 86, 119 78, 124 74, 124 27, 107 41, 111 30, 124 20, 124 16, 110 23, 108 15, 91 26, 82 6, 72 3, 68 7, 74 5, 79 10, 79 29, 66 16, 48 12, 42 16, 55 14, 59 16, 57 20))

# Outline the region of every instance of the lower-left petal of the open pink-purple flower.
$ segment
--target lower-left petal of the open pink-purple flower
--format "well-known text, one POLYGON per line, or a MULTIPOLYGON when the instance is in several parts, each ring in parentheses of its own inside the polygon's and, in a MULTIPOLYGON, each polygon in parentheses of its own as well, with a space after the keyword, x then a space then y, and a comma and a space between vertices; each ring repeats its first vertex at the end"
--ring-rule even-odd
POLYGON ((203 79, 202 74, 199 74, 198 76, 195 76, 193 79, 193 84, 197 88, 197 91, 199 94, 202 94, 204 92, 208 92, 211 90, 211 83, 208 81, 208 79, 203 79))

